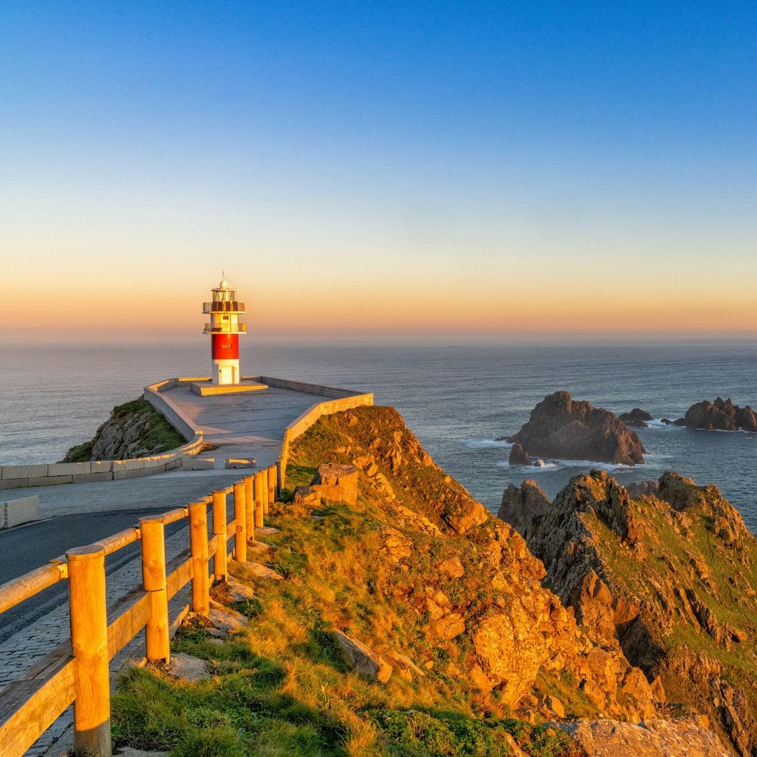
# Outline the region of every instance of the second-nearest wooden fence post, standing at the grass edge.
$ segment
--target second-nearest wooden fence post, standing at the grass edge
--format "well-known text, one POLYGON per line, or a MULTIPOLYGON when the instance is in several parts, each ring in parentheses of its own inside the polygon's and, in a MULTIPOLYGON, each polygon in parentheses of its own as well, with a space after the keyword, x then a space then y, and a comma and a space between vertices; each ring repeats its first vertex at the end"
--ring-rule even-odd
POLYGON ((150 595, 150 619, 145 625, 149 662, 171 656, 168 637, 168 594, 166 591, 166 540, 163 517, 140 518, 142 540, 142 588, 150 595))

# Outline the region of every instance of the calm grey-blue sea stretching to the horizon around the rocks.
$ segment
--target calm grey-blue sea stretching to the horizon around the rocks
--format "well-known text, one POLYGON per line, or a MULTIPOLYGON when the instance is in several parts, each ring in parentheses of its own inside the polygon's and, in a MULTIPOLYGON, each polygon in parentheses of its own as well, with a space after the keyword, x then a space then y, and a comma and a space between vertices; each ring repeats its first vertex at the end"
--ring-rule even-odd
MULTIPOLYGON (((92 438, 111 407, 142 386, 175 375, 205 375, 208 347, 0 347, 0 464, 55 462, 92 438)), ((677 418, 716 396, 757 406, 757 344, 285 344, 245 343, 242 368, 375 392, 394 405, 451 475, 493 512, 509 481, 535 478, 553 496, 592 467, 621 482, 676 470, 713 482, 757 533, 757 440, 738 432, 689 431, 662 424, 638 431, 644 466, 545 461, 510 468, 509 445, 546 394, 566 389, 615 413, 641 407, 677 418)))

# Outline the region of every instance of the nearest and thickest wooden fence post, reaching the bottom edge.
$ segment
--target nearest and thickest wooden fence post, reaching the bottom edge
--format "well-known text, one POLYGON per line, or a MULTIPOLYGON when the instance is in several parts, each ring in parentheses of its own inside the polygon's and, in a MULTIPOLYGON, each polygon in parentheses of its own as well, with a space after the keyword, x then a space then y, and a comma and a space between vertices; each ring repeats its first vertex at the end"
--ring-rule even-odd
POLYGON ((105 550, 77 547, 66 553, 71 648, 76 674, 73 750, 76 757, 111 757, 111 681, 107 668, 105 550))

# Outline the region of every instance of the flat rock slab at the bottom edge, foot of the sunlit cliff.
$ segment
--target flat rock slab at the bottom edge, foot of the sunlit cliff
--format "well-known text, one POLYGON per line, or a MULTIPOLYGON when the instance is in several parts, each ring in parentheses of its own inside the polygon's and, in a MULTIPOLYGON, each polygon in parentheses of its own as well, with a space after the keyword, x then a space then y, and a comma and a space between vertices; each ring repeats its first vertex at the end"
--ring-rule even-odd
POLYGON ((590 757, 729 757, 718 737, 693 718, 648 720, 639 724, 615 720, 556 723, 590 757))

